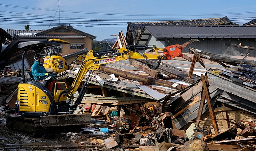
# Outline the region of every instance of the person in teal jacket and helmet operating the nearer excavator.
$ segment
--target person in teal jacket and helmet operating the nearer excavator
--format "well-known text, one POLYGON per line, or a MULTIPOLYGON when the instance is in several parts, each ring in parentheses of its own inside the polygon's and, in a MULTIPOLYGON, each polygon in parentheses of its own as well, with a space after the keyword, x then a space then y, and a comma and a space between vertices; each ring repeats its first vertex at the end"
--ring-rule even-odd
MULTIPOLYGON (((35 59, 35 62, 31 67, 31 72, 36 81, 40 82, 41 80, 43 80, 44 78, 46 78, 48 76, 52 76, 52 77, 55 76, 53 74, 48 73, 46 71, 46 69, 44 68, 44 66, 43 66, 44 55, 43 54, 36 53, 34 59, 35 59)), ((54 83, 56 83, 56 81, 52 81, 52 82, 48 83, 48 86, 47 86, 47 89, 50 90, 51 93, 52 93, 52 87, 53 87, 54 83)))

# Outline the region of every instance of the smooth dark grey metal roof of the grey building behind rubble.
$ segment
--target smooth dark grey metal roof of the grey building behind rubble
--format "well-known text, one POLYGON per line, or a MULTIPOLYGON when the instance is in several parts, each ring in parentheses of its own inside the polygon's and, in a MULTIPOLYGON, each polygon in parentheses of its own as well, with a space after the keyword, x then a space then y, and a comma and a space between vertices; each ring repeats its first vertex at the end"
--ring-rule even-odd
POLYGON ((256 26, 145 25, 145 29, 157 40, 173 38, 256 39, 256 26))

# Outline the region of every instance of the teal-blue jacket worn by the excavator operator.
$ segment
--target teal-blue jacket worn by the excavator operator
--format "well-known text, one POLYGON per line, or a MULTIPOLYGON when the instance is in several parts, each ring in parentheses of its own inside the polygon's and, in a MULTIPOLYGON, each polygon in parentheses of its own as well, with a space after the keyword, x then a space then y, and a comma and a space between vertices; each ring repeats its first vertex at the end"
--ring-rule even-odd
MULTIPOLYGON (((47 73, 44 66, 40 65, 40 63, 38 61, 35 61, 34 64, 32 65, 31 72, 32 72, 34 79, 36 79, 36 81, 44 79, 46 77, 45 73, 47 73)), ((53 74, 50 74, 47 77, 49 77, 49 76, 54 77, 53 74)))

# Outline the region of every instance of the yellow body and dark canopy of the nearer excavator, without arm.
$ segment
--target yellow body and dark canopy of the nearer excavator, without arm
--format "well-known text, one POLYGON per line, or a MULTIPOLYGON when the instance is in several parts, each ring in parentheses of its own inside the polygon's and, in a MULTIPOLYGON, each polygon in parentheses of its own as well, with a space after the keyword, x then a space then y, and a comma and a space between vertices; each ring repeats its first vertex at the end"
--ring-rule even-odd
MULTIPOLYGON (((44 48, 59 45, 60 43, 50 41, 27 41, 20 43, 18 48, 23 48, 25 50, 23 55, 25 55, 30 49, 35 52, 41 52, 44 48)), ((18 85, 18 112, 20 115, 44 116, 55 115, 58 112, 69 112, 69 106, 66 106, 67 96, 60 96, 60 92, 65 91, 67 85, 64 82, 56 82, 54 92, 52 93, 46 87, 47 80, 53 80, 51 78, 48 77, 42 80, 44 81, 43 83, 31 80, 33 79, 31 77, 26 79, 24 77, 24 65, 22 65, 22 81, 18 85), (57 104, 58 109, 56 107, 57 104)))

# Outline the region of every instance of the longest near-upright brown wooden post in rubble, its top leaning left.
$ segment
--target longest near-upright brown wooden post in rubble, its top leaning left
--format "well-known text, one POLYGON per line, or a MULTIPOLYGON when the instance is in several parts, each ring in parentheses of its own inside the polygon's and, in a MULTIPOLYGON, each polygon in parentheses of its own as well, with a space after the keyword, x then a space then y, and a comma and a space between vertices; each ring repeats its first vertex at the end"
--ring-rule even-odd
MULTIPOLYGON (((207 100, 207 105, 208 105, 209 112, 210 112, 210 117, 212 119, 216 119, 214 109, 213 109, 213 106, 212 106, 212 100, 210 98, 210 92, 209 92, 209 89, 208 89, 208 85, 206 83, 206 81, 208 81, 208 77, 201 74, 201 78, 202 78, 202 84, 203 84, 203 88, 204 88, 205 97, 206 97, 206 100, 207 100)), ((213 125, 213 129, 214 129, 215 134, 216 135, 219 134, 219 128, 218 128, 217 120, 211 120, 211 121, 212 121, 212 125, 213 125)))

